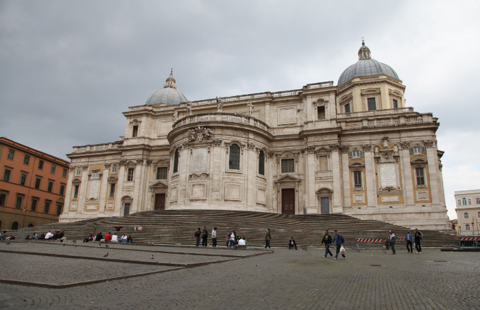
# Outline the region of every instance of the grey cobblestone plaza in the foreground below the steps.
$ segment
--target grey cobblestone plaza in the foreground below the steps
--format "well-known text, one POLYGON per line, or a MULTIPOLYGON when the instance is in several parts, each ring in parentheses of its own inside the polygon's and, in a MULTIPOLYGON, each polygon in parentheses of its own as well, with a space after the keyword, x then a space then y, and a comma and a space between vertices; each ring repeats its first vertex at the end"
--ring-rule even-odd
POLYGON ((334 261, 322 248, 69 243, 0 243, 0 309, 480 307, 472 252, 409 254, 398 244, 396 255, 347 249, 346 260, 334 261))

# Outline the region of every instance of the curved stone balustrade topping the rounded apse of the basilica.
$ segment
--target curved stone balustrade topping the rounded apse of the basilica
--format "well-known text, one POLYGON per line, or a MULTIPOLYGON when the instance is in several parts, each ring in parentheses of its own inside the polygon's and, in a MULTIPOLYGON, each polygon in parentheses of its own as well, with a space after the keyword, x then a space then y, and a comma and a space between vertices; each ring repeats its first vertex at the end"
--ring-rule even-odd
POLYGON ((262 130, 269 130, 269 126, 254 117, 238 115, 235 113, 213 112, 189 115, 173 123, 173 129, 194 123, 202 122, 221 122, 221 123, 241 123, 247 126, 253 126, 262 130))

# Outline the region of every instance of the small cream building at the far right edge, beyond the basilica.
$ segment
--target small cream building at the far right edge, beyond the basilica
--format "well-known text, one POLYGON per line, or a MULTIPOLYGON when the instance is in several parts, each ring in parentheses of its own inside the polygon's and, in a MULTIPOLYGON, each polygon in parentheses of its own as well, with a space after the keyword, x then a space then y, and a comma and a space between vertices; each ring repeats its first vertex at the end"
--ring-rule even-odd
POLYGON ((480 235, 480 189, 455 191, 460 235, 480 235))

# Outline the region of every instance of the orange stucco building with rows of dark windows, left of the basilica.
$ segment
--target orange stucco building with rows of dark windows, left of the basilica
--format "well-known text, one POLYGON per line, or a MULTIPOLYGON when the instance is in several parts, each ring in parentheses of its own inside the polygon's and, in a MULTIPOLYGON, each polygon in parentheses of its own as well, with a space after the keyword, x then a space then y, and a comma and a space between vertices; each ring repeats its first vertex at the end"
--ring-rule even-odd
POLYGON ((58 222, 70 163, 0 137, 0 230, 58 222))

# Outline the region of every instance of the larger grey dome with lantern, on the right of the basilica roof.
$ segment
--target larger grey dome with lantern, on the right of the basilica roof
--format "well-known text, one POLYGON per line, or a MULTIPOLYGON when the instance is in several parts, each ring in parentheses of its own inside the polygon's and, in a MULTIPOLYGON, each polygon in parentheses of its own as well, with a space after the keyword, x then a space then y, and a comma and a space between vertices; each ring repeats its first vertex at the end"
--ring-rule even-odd
POLYGON ((370 58, 370 49, 365 46, 365 42, 362 42, 361 45, 362 46, 359 49, 359 61, 356 64, 352 64, 341 73, 337 86, 345 84, 352 80, 352 78, 368 75, 383 74, 396 80, 400 80, 394 69, 388 64, 383 64, 370 58))

